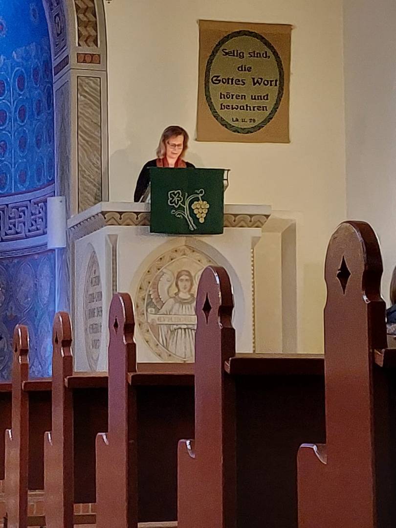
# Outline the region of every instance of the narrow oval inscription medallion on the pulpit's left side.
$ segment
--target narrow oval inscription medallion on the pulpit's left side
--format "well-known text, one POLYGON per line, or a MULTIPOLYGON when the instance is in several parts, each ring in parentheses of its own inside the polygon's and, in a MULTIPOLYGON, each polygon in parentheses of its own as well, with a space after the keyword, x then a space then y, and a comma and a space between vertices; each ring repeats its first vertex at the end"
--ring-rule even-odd
POLYGON ((102 282, 96 252, 92 249, 84 287, 84 333, 89 367, 98 370, 102 341, 102 282))

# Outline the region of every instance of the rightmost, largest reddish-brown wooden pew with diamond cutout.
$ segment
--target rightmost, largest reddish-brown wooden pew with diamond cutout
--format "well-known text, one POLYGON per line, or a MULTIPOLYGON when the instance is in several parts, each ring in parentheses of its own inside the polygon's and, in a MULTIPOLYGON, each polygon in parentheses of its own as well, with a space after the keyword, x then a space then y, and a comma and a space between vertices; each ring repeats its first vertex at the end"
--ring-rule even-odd
POLYGON ((385 349, 381 275, 370 225, 341 224, 325 267, 327 439, 298 452, 300 528, 396 526, 396 351, 385 349))

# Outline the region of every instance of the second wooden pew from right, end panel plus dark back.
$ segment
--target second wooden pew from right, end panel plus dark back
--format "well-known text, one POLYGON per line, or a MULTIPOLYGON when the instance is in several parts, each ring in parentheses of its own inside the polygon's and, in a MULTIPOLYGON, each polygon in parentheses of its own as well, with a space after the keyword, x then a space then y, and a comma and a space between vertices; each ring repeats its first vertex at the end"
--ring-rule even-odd
POLYGON ((197 291, 195 441, 178 446, 178 528, 297 527, 298 447, 325 439, 323 356, 235 355, 223 268, 197 291))

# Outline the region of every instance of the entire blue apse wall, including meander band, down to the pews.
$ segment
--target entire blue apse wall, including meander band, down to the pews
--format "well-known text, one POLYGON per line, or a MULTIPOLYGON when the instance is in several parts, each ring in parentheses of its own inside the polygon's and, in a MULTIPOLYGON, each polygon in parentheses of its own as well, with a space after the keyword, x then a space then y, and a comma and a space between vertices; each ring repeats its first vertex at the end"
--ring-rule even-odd
POLYGON ((54 104, 42 0, 0 0, 0 379, 15 324, 30 332, 31 375, 51 374, 55 253, 46 250, 54 194, 54 104))

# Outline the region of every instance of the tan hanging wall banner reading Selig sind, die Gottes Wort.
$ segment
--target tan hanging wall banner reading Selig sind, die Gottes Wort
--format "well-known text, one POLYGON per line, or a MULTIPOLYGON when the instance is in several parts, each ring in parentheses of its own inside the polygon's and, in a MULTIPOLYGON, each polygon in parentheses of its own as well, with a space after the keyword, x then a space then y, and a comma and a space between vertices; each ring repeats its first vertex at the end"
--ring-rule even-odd
POLYGON ((291 26, 199 25, 196 139, 289 143, 291 26))

